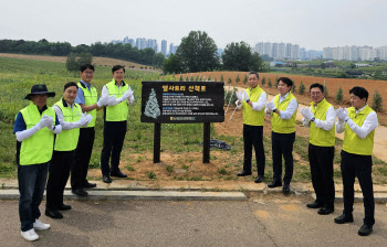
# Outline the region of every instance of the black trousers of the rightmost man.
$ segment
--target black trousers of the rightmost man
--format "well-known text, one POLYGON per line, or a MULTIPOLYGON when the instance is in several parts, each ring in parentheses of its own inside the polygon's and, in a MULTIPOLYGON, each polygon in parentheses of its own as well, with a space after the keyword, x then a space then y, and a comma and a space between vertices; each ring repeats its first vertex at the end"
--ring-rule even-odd
POLYGON ((375 200, 373 187, 373 158, 372 155, 358 155, 342 151, 342 178, 344 187, 344 214, 352 215, 354 211, 354 183, 355 176, 363 192, 365 218, 364 224, 375 224, 375 200))

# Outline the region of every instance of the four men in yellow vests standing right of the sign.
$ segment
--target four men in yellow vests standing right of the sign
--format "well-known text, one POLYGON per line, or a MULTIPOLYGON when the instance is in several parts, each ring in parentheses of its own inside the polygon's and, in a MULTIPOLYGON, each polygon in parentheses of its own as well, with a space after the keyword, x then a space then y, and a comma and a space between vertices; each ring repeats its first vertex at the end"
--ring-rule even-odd
MULTIPOLYGON (((259 74, 249 73, 249 88, 243 94, 237 93, 237 108, 243 111, 243 170, 238 176, 252 174, 252 147, 255 150, 258 176, 255 183, 264 181, 265 155, 263 148, 264 115, 271 117, 273 180, 268 187, 282 186, 290 192, 293 176, 293 143, 295 140, 296 112, 299 104, 292 94, 293 82, 287 77, 278 79, 279 95, 268 101, 266 93, 258 85, 259 74), (282 157, 284 176, 282 179, 282 157)), ((367 105, 368 92, 363 87, 349 90, 349 108, 334 107, 325 99, 324 86, 312 84, 310 87, 311 106, 301 108, 303 126, 310 128, 308 160, 312 184, 316 200, 308 203, 308 208, 320 208, 321 215, 334 212, 335 184, 333 180, 333 160, 335 153, 335 129, 344 131, 341 170, 344 190, 344 211, 334 222, 345 224, 354 222, 354 183, 358 179, 365 207, 364 224, 358 235, 367 236, 375 224, 375 200, 372 180, 373 147, 375 128, 378 126, 376 112, 367 105), (335 125, 335 118, 337 118, 335 125)))

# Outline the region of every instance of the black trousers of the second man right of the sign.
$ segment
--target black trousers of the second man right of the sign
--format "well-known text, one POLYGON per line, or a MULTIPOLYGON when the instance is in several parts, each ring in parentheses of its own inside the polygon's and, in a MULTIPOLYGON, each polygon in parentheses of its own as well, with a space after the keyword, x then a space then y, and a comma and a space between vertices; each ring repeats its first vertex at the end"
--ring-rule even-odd
POLYGON ((290 184, 293 178, 293 143, 295 132, 272 132, 273 181, 280 183, 282 178, 282 157, 285 160, 284 184, 290 184))

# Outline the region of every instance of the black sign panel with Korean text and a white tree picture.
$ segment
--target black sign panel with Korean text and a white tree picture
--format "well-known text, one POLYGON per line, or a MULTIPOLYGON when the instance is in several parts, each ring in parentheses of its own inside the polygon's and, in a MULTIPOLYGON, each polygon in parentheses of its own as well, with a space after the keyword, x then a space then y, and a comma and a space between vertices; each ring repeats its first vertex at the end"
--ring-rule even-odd
POLYGON ((143 82, 142 122, 222 122, 223 86, 215 82, 143 82))

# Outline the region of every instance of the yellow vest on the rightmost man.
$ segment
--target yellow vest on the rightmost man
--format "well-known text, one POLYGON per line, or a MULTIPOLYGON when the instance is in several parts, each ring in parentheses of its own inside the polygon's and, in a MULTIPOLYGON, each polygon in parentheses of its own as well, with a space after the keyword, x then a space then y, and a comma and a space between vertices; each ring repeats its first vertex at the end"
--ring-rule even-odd
MULTIPOLYGON (((349 107, 348 116, 357 126, 362 127, 364 120, 374 110, 367 105, 356 115, 355 107, 349 107)), ((374 149, 374 135, 375 129, 368 133, 366 138, 362 139, 349 128, 348 125, 345 125, 343 150, 359 155, 372 155, 374 149)))

